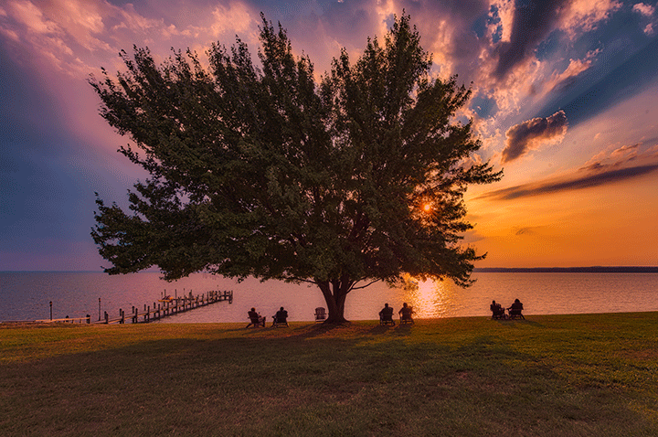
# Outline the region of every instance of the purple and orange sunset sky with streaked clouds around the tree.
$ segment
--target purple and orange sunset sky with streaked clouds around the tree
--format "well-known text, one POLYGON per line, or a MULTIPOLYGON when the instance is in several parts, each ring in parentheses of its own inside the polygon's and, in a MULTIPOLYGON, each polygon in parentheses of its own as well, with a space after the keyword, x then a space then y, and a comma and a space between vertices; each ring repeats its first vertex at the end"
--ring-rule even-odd
POLYGON ((472 83, 460 116, 504 168, 472 187, 477 267, 658 265, 658 6, 635 0, 3 0, 0 271, 107 265, 90 238, 94 192, 125 205, 144 178, 87 80, 147 46, 203 54, 236 35, 257 53, 260 11, 323 75, 404 10, 432 74, 472 83))

